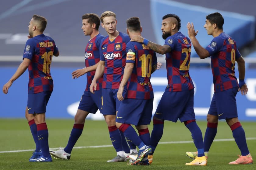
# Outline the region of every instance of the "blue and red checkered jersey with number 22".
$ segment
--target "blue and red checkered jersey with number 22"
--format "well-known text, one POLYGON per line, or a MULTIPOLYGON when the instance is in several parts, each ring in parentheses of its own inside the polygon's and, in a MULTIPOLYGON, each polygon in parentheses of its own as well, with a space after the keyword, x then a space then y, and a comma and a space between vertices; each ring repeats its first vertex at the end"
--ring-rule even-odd
POLYGON ((164 45, 172 50, 165 54, 168 85, 165 91, 180 92, 194 88, 189 75, 191 42, 190 39, 178 32, 169 36, 164 45))

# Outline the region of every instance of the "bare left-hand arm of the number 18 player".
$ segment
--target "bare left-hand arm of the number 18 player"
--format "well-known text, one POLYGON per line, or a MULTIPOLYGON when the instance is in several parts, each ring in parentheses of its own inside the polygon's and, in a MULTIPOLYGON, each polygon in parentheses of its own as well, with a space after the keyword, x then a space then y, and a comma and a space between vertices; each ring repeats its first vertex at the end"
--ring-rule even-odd
POLYGON ((8 93, 8 89, 11 87, 12 83, 26 71, 29 64, 30 64, 30 59, 24 58, 22 63, 19 65, 16 72, 12 76, 12 78, 3 86, 3 93, 5 94, 8 93))

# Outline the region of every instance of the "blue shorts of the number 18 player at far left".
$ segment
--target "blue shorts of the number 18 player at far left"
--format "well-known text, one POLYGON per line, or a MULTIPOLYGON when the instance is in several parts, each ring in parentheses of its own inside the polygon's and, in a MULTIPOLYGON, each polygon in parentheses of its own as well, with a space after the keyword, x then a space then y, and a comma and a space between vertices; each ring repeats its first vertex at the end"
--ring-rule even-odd
POLYGON ((52 91, 28 94, 27 109, 28 113, 45 113, 46 105, 51 97, 52 91))

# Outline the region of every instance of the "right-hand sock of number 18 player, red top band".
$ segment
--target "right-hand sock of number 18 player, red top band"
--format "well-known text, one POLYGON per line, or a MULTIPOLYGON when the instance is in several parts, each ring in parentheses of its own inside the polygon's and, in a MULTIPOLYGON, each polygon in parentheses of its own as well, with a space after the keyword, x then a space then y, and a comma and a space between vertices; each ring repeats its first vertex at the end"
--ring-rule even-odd
POLYGON ((42 155, 49 157, 48 129, 46 123, 37 124, 37 137, 42 147, 42 155))

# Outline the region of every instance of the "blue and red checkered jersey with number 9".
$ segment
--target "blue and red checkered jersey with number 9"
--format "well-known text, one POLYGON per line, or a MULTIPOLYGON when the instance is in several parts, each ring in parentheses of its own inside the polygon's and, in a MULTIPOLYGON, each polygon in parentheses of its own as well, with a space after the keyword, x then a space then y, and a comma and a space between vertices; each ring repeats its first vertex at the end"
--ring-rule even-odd
POLYGON ((228 34, 221 33, 205 49, 211 55, 214 92, 238 87, 235 61, 241 54, 236 48, 236 42, 228 34))

